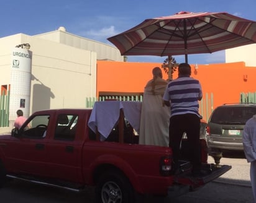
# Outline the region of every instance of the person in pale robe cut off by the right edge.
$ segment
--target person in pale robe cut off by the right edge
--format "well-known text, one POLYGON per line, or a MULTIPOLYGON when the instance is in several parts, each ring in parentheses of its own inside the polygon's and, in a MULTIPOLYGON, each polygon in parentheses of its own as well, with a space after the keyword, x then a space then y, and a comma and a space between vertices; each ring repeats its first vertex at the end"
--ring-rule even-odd
POLYGON ((256 115, 245 123, 243 145, 245 157, 250 163, 250 182, 256 203, 256 115))

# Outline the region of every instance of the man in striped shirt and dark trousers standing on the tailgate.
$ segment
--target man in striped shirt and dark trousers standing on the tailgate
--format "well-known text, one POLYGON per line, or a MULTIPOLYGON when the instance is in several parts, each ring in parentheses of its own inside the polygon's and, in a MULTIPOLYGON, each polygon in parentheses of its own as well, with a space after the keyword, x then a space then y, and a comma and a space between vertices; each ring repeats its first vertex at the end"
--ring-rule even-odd
POLYGON ((180 143, 183 133, 186 132, 190 152, 190 162, 193 173, 200 173, 200 119, 198 113, 199 103, 203 97, 201 84, 190 77, 191 67, 187 63, 178 66, 178 78, 167 85, 163 100, 171 108, 169 126, 169 146, 173 150, 173 172, 178 169, 180 158, 180 143))

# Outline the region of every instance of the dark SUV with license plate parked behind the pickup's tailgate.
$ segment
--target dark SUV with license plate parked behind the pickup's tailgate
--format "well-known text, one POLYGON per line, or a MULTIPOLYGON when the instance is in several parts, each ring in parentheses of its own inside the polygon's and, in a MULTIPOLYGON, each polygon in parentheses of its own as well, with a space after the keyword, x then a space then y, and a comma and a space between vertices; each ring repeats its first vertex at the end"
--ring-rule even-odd
POLYGON ((256 114, 256 104, 239 103, 218 106, 208 121, 207 142, 210 152, 243 150, 244 125, 256 114))

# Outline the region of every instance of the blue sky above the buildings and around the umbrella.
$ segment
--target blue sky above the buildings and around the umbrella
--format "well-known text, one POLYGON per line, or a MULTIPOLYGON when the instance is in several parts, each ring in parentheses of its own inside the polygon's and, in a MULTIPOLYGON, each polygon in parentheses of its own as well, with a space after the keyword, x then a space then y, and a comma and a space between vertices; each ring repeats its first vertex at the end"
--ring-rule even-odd
MULTIPOLYGON (((255 8, 255 0, 2 0, 0 37, 17 33, 37 35, 63 26, 67 32, 111 44, 107 41, 108 37, 152 17, 173 15, 180 11, 228 12, 256 21, 255 8)), ((162 63, 165 58, 128 56, 128 61, 162 63)), ((184 56, 175 56, 175 59, 177 63, 185 61, 184 56)), ((191 64, 224 61, 224 51, 188 56, 191 64)))

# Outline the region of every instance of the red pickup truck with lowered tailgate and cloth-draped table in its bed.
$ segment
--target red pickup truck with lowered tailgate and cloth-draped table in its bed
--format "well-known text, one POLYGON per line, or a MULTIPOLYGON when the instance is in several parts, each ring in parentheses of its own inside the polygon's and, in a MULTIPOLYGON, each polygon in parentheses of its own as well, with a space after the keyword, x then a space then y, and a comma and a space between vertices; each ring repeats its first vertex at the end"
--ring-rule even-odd
POLYGON ((172 175, 169 147, 138 144, 140 105, 98 101, 93 110, 35 112, 21 129, 0 136, 0 186, 7 178, 72 191, 95 186, 97 202, 136 202, 144 194, 192 191, 231 169, 207 163, 202 139, 202 162, 209 173, 191 176, 189 152, 181 149, 181 173, 172 175))

